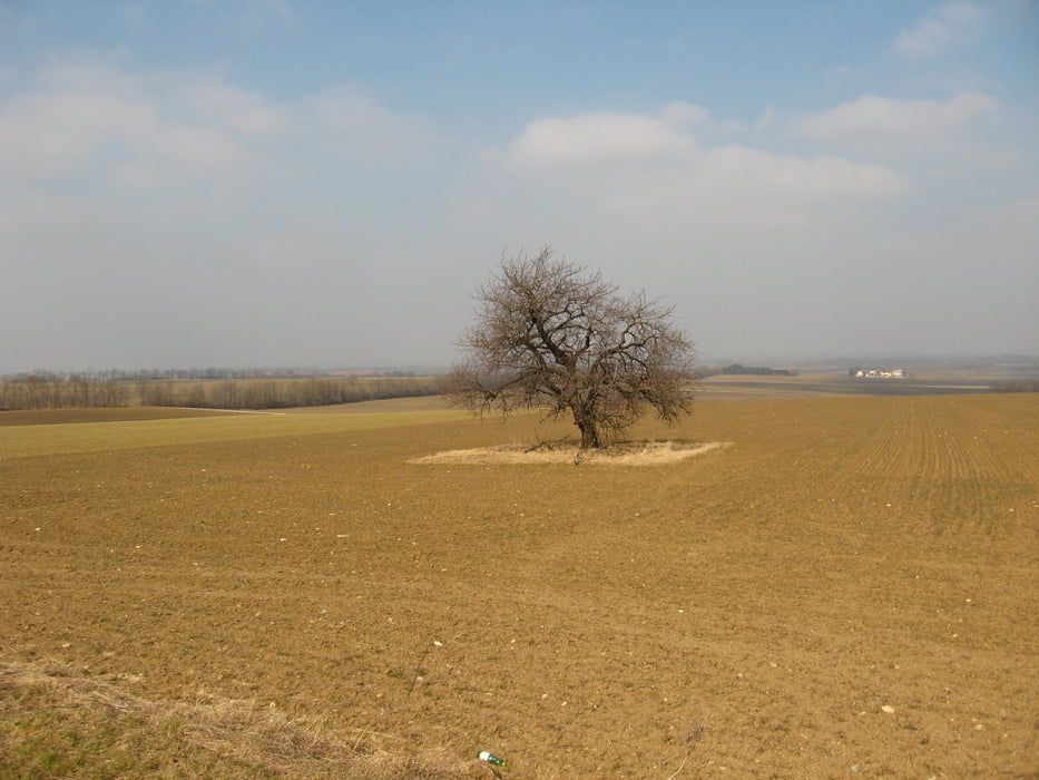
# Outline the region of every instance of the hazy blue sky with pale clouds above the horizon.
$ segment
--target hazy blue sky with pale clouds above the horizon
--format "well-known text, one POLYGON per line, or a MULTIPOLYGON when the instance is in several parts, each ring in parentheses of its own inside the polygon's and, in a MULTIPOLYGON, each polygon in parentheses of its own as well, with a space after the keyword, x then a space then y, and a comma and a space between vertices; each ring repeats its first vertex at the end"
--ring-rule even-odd
POLYGON ((449 365, 545 245, 702 362, 1039 354, 1039 1, 0 0, 0 373, 449 365))

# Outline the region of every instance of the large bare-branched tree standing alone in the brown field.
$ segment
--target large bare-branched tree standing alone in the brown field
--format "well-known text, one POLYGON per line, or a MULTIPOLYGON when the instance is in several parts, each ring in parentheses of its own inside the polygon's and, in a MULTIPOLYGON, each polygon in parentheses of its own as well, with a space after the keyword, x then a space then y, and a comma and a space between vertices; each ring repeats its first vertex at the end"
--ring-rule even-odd
POLYGON ((478 300, 461 339, 468 360, 448 386, 458 404, 569 412, 581 449, 616 437, 647 404, 668 422, 689 413, 693 343, 672 324, 673 310, 644 293, 621 298, 547 246, 502 259, 478 300))

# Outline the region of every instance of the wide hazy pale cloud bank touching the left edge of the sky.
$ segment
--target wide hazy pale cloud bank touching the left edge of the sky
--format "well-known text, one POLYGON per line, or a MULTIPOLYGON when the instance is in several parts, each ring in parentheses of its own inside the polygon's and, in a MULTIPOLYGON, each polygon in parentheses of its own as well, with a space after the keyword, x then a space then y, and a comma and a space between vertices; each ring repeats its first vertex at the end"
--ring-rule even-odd
POLYGON ((325 160, 314 169, 330 159, 400 166, 430 142, 415 121, 351 87, 278 104, 212 71, 98 58, 53 60, 0 96, 0 177, 75 177, 91 197, 106 186, 226 189, 306 157, 325 160))

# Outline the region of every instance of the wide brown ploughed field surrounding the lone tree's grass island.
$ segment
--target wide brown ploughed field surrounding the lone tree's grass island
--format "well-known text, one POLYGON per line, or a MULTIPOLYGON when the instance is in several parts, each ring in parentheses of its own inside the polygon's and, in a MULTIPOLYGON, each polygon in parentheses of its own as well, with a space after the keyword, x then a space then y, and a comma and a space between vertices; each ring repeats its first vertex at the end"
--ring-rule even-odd
MULTIPOLYGON (((410 777, 1039 772, 1032 393, 698 402, 633 433, 729 446, 597 468, 409 462, 570 432, 431 399, 119 411, 0 415, 0 774, 65 766, 26 669, 248 702, 410 777)), ((134 739, 140 777, 190 774, 134 739)))

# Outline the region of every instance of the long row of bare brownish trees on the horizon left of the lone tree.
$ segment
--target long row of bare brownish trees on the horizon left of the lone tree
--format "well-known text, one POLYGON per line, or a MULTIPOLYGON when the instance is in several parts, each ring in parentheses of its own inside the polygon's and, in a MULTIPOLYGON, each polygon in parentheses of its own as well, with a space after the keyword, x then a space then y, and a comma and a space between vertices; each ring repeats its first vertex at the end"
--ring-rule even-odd
POLYGON ((0 381, 0 411, 126 406, 284 409, 435 396, 442 390, 440 377, 126 380, 33 372, 0 381))

